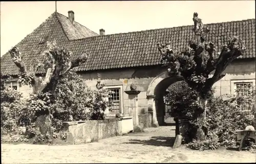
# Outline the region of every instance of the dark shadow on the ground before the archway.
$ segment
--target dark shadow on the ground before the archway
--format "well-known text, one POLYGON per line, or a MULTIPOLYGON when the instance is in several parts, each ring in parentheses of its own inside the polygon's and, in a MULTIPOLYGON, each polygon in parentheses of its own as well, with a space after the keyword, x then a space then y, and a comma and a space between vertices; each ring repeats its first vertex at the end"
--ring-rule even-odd
POLYGON ((122 144, 141 144, 141 145, 173 147, 174 142, 175 142, 174 136, 152 136, 150 140, 129 140, 129 142, 122 143, 122 144))

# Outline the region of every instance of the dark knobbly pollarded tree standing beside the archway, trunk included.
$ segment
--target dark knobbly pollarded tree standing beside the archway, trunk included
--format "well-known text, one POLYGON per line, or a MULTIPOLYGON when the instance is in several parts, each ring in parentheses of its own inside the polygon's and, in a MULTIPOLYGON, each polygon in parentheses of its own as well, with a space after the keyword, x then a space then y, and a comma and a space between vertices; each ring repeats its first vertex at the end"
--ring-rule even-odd
POLYGON ((207 133, 206 105, 209 96, 212 94, 212 86, 225 76, 223 71, 236 58, 242 56, 245 45, 237 37, 229 38, 227 45, 222 47, 220 53, 217 52, 214 43, 206 42, 206 35, 209 32, 198 13, 193 15, 194 33, 196 41, 190 41, 189 46, 183 52, 172 49, 170 42, 158 43, 158 49, 162 55, 161 62, 165 61, 168 72, 171 75, 182 76, 187 85, 196 91, 197 102, 197 140, 205 140, 207 133), (210 73, 214 72, 212 77, 210 73))

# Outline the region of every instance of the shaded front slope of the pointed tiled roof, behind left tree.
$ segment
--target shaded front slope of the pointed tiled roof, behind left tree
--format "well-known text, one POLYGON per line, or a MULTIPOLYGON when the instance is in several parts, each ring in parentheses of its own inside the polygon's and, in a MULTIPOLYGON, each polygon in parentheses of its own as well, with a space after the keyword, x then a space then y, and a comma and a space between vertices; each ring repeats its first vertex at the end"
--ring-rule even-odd
MULTIPOLYGON (((33 62, 33 58, 40 59, 39 52, 46 48, 46 43, 41 43, 44 38, 47 41, 56 39, 58 43, 68 43, 69 41, 55 13, 16 45, 28 67, 33 62), (36 49, 37 52, 34 52, 33 49, 36 49)), ((19 72, 19 69, 12 62, 9 52, 1 57, 1 72, 3 74, 10 73, 11 75, 16 75, 19 72)))

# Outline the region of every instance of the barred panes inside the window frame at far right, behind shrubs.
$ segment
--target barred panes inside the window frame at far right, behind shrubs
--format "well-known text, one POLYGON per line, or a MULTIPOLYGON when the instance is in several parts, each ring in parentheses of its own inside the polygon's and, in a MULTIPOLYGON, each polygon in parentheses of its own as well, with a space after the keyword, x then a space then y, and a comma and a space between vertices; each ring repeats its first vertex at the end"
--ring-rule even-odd
MULTIPOLYGON (((243 83, 234 83, 234 93, 239 97, 244 97, 245 101, 247 101, 246 97, 250 97, 252 94, 252 82, 243 82, 243 83)), ((249 103, 241 103, 239 100, 237 102, 238 106, 241 110, 251 110, 251 105, 245 105, 249 103)))

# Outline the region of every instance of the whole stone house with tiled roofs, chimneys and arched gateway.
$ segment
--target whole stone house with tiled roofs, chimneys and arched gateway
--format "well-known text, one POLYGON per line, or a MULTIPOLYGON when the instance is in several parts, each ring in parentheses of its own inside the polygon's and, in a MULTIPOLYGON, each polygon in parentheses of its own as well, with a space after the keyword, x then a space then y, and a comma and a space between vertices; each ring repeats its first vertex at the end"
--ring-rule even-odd
MULTIPOLYGON (((130 90, 131 84, 135 84, 137 90, 141 91, 137 96, 138 113, 151 114, 154 125, 164 125, 165 91, 181 79, 168 76, 166 68, 161 66, 157 43, 170 41, 174 49, 183 50, 188 41, 195 37, 194 25, 105 35, 103 29, 97 34, 74 18, 73 11, 68 12, 68 17, 54 12, 20 41, 16 46, 22 53, 24 62, 29 65, 34 58, 40 60, 40 53, 46 49, 46 42, 53 40, 60 47, 66 46, 74 56, 86 52, 88 60, 78 67, 78 73, 93 88, 96 87, 97 74, 101 75, 105 87, 115 92, 115 110, 112 114, 131 116, 129 95, 125 91, 130 90)), ((226 68, 226 75, 215 84, 215 96, 233 94, 243 84, 255 85, 255 19, 205 25, 210 30, 207 41, 213 42, 219 50, 227 43, 228 37, 234 35, 246 43, 243 56, 234 60, 226 68)), ((9 52, 1 58, 1 72, 15 78, 19 73, 9 52)), ((10 87, 28 96, 31 89, 17 85, 15 78, 9 84, 10 87)))

